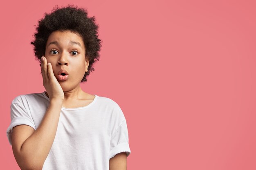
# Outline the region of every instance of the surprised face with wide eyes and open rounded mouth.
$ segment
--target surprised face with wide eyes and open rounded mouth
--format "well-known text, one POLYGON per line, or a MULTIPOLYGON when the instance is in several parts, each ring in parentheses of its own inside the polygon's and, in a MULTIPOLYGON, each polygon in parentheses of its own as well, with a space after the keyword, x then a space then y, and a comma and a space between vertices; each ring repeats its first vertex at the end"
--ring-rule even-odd
POLYGON ((71 31, 54 31, 48 38, 45 47, 47 62, 52 64, 54 76, 63 91, 77 88, 88 71, 89 61, 85 60, 83 39, 71 31), (58 71, 65 69, 68 79, 58 79, 58 71))

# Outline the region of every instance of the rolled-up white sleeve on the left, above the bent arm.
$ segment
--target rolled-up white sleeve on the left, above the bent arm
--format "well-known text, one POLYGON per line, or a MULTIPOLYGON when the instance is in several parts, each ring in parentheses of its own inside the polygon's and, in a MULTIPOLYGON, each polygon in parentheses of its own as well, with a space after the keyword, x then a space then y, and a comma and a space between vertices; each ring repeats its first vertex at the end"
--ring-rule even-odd
POLYGON ((9 140, 10 145, 11 145, 13 128, 15 126, 22 125, 22 124, 31 126, 32 128, 34 128, 34 130, 36 130, 34 121, 31 118, 31 115, 27 113, 27 110, 25 109, 25 107, 19 103, 12 102, 11 103, 11 123, 6 131, 7 138, 9 140))

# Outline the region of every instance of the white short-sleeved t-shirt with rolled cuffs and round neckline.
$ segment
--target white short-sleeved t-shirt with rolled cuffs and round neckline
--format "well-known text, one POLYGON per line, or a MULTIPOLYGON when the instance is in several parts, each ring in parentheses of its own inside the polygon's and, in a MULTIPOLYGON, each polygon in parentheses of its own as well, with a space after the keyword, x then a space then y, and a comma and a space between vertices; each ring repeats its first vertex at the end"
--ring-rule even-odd
MULTIPOLYGON (((36 130, 49 106, 43 93, 19 95, 11 103, 11 144, 14 126, 36 130)), ((130 155, 126 119, 112 99, 95 95, 92 103, 79 108, 61 108, 56 136, 43 170, 109 170, 109 159, 120 152, 130 155)))

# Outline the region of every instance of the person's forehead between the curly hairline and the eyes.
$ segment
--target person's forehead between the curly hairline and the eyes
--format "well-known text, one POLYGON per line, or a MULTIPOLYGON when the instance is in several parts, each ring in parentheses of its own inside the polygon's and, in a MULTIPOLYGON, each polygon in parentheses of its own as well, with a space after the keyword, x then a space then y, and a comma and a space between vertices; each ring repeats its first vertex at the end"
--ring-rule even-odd
POLYGON ((83 39, 78 33, 71 31, 54 31, 49 35, 46 42, 46 47, 51 45, 78 45, 82 49, 84 48, 83 39))

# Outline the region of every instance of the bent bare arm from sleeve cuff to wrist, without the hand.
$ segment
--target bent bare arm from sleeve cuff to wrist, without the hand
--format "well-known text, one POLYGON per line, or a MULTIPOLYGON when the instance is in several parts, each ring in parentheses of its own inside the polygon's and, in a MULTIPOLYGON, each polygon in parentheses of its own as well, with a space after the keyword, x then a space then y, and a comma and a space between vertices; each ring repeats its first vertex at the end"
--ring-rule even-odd
POLYGON ((13 128, 13 155, 22 170, 41 170, 56 135, 62 100, 53 99, 36 130, 27 125, 13 128))

